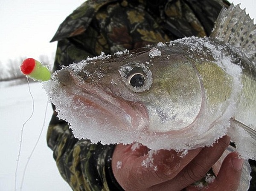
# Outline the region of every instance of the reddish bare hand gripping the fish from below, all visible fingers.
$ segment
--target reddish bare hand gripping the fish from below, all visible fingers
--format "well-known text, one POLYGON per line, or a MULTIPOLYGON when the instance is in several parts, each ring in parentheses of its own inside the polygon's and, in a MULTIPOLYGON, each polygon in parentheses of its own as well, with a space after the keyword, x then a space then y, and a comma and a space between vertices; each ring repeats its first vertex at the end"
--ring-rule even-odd
MULTIPOLYGON (((173 150, 149 152, 143 145, 134 149, 119 144, 112 156, 113 174, 125 191, 199 191, 191 184, 205 176, 229 143, 224 136, 212 147, 190 150, 183 157, 173 150)), ((207 191, 236 191, 242 164, 237 153, 228 154, 207 191)))

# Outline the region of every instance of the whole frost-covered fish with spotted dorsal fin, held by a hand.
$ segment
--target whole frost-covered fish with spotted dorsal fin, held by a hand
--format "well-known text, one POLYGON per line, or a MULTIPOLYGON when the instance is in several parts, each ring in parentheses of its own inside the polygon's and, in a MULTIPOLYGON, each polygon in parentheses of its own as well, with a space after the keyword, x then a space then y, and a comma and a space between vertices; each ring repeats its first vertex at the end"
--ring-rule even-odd
POLYGON ((233 4, 210 37, 185 37, 63 66, 44 82, 58 117, 92 143, 153 150, 228 135, 256 160, 256 25, 233 4))

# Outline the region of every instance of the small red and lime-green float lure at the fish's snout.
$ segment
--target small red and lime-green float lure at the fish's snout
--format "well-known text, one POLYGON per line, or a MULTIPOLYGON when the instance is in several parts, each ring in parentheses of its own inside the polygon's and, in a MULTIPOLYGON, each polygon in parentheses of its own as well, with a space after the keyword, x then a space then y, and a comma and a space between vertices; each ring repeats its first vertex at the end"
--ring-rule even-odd
POLYGON ((20 71, 27 77, 40 82, 51 79, 49 68, 33 58, 25 59, 20 65, 20 71))

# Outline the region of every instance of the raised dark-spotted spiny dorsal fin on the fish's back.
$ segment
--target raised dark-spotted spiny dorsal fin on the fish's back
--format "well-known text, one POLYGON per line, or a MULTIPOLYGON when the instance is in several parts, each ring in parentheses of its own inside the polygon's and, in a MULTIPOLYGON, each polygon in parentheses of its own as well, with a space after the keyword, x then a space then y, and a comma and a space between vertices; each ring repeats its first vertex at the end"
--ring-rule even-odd
POLYGON ((211 37, 235 46, 256 64, 256 25, 239 5, 221 10, 211 37))

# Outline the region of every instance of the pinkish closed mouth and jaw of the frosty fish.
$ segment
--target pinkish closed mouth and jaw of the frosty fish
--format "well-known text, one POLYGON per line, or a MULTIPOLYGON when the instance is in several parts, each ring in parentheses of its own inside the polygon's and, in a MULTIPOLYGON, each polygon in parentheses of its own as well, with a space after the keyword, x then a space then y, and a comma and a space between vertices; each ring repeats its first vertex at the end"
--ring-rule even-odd
POLYGON ((73 99, 85 106, 82 112, 99 123, 111 124, 113 128, 135 131, 148 126, 148 112, 139 102, 123 100, 90 84, 83 84, 73 99))

